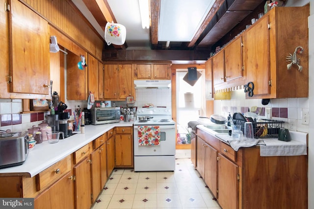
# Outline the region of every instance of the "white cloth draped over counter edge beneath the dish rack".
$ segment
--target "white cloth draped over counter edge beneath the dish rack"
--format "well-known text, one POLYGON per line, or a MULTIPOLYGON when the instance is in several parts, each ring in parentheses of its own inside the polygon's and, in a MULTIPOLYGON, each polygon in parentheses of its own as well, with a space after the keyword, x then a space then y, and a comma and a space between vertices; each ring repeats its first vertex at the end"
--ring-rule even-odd
POLYGON ((266 146, 260 147, 261 156, 307 155, 306 141, 280 141, 277 138, 264 139, 266 146))

